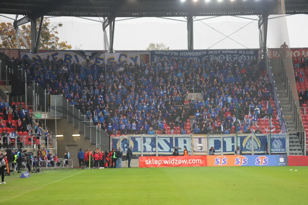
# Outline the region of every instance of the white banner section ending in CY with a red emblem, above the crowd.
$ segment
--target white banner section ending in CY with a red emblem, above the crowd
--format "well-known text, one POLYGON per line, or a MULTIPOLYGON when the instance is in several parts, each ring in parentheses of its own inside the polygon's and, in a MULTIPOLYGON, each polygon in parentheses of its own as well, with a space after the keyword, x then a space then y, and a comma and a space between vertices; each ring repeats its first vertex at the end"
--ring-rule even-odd
POLYGON ((150 63, 151 52, 119 52, 119 53, 105 53, 105 64, 117 62, 122 64, 132 65, 142 63, 150 63))

